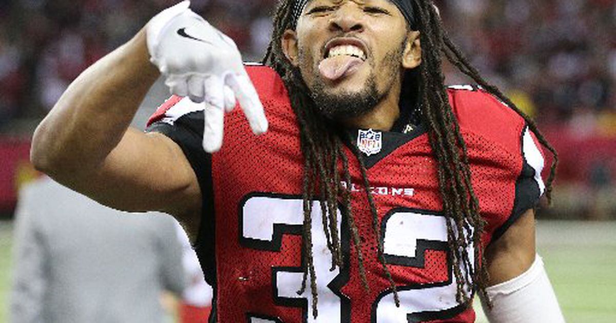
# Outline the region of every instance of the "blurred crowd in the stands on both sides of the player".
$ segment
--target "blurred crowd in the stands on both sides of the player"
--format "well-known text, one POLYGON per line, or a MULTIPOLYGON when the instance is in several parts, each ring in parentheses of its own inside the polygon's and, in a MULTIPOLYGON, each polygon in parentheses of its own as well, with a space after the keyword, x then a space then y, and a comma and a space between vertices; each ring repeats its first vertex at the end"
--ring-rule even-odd
MULTIPOLYGON (((174 2, 0 2, 0 129, 14 118, 44 115, 84 68, 174 2)), ((269 42, 275 2, 193 0, 192 7, 233 38, 246 60, 258 60, 269 42)), ((616 131, 616 1, 437 3, 474 65, 542 124, 616 131)), ((452 84, 468 82, 448 75, 452 84)))

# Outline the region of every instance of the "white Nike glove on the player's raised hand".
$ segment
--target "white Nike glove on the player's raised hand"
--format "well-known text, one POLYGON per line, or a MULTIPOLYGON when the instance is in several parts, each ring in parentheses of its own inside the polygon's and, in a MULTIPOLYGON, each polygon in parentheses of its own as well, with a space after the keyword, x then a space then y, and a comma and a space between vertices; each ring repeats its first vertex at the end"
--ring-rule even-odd
POLYGON ((172 94, 205 102, 203 148, 213 153, 222 146, 225 110, 233 110, 236 99, 254 134, 268 124, 235 42, 188 6, 180 2, 148 22, 148 52, 172 94))

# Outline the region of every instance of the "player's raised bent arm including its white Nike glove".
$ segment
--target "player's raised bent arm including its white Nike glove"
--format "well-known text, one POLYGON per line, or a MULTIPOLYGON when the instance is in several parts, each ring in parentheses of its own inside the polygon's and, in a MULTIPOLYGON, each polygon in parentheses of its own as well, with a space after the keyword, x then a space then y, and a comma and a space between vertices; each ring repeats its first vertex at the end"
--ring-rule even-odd
POLYGON ((184 152, 164 135, 129 128, 159 71, 173 94, 202 102, 206 151, 220 148, 224 110, 236 99, 254 132, 267 130, 237 47, 182 2, 68 87, 36 129, 35 167, 116 209, 160 210, 195 223, 201 193, 184 152))

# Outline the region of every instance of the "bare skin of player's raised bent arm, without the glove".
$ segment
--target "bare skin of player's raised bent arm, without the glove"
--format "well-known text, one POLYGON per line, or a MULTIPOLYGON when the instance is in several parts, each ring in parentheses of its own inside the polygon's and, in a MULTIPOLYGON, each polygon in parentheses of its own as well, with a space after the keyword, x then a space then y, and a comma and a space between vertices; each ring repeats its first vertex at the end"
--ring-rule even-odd
POLYGON ((201 193, 182 150, 129 129, 158 76, 142 30, 68 87, 34 133, 35 167, 110 207, 161 210, 192 224, 201 193))

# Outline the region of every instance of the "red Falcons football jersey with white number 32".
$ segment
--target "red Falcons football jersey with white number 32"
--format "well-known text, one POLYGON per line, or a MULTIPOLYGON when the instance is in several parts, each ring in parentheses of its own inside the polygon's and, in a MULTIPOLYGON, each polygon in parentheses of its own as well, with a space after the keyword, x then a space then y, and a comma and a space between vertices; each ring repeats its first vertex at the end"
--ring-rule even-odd
MULTIPOLYGON (((247 70, 270 122, 267 134, 253 135, 238 109, 225 119, 222 150, 206 154, 201 148, 205 104, 178 97, 164 103, 148 127, 182 147, 200 181, 204 207, 195 247, 215 289, 211 321, 473 322, 473 309, 456 302, 436 161, 423 126, 411 134, 354 131, 354 140, 370 154, 367 174, 381 227, 376 237, 359 162, 347 149, 353 217, 370 289, 362 286, 344 212, 338 217, 344 266, 330 271, 315 202, 314 318, 310 288, 298 295, 306 266, 298 124, 278 75, 264 66, 247 70), (399 308, 377 259, 377 239, 383 241, 399 308)), ((543 155, 524 119, 492 95, 472 87, 448 92, 468 147, 472 185, 487 221, 482 242, 488 244, 537 203, 545 189, 543 155)))

